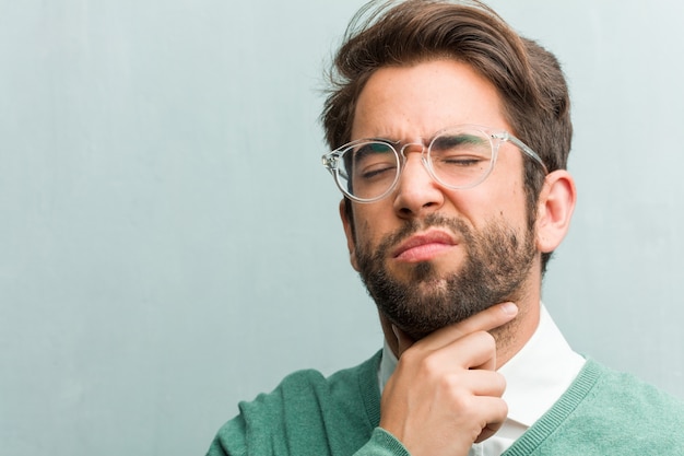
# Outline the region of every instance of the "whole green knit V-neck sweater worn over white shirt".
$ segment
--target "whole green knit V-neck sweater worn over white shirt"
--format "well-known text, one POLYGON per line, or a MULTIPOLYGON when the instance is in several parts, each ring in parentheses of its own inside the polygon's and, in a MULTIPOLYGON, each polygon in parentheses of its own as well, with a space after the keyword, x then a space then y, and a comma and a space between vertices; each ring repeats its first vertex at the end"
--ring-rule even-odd
MULTIPOLYGON (((240 414, 208 456, 409 455, 378 428, 380 353, 325 378, 287 376, 275 390, 240 402, 240 414)), ((568 390, 504 453, 518 455, 684 455, 684 402, 634 376, 588 360, 568 390)))

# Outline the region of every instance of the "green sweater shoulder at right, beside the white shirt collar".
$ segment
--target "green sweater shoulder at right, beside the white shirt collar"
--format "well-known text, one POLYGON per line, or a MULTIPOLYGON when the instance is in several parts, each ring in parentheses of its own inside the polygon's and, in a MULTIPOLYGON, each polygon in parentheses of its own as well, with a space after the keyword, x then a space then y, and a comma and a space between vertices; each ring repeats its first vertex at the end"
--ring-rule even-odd
POLYGON ((684 401, 588 360, 563 397, 507 455, 682 455, 684 401))

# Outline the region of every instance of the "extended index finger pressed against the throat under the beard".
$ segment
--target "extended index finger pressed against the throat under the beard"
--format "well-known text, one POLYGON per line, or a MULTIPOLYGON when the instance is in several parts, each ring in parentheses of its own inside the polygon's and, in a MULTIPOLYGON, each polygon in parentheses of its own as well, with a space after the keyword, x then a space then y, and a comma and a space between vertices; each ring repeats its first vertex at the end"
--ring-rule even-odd
POLYGON ((465 335, 476 331, 490 331, 514 319, 518 315, 518 306, 514 303, 493 305, 463 321, 438 329, 421 340, 427 350, 440 349, 465 335))

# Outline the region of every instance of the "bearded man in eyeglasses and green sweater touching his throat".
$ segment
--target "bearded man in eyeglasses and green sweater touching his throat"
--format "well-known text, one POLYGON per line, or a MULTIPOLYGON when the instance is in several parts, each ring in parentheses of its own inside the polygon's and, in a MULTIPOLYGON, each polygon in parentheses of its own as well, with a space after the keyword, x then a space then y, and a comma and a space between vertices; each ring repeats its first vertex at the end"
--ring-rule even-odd
POLYGON ((477 3, 362 10, 322 115, 384 350, 240 404, 210 455, 684 454, 684 405, 541 304, 575 185, 555 58, 477 3))

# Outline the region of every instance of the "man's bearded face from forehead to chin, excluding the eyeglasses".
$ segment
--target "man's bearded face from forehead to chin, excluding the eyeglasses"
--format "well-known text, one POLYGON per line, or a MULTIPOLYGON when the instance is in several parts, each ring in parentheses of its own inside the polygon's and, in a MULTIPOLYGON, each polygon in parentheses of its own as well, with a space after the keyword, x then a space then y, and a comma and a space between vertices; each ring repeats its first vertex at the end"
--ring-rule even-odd
MULTIPOLYGON (((362 91, 351 139, 425 143, 446 127, 465 124, 510 131, 502 112, 496 89, 464 63, 388 67, 362 91)), ((420 152, 406 148, 391 195, 353 203, 353 220, 343 215, 354 268, 380 312, 415 339, 522 299, 539 270, 522 156, 512 144, 504 142, 492 174, 465 190, 434 182, 420 152)))

